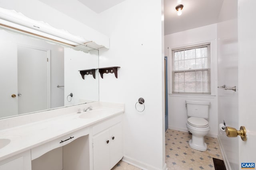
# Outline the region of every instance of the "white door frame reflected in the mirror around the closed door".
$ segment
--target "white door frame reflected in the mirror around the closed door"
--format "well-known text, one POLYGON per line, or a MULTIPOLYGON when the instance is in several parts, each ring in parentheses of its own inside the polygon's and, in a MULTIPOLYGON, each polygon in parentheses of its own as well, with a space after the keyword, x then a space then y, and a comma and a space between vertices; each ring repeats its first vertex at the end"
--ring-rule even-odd
MULTIPOLYGON (((40 47, 35 47, 35 46, 30 46, 30 45, 23 45, 18 43, 17 47, 25 47, 25 48, 30 48, 30 49, 36 49, 36 50, 41 50, 41 51, 46 51, 47 52, 47 109, 50 109, 51 106, 51 57, 50 57, 50 50, 49 49, 43 49, 40 47)), ((18 56, 17 56, 18 57, 18 56)))

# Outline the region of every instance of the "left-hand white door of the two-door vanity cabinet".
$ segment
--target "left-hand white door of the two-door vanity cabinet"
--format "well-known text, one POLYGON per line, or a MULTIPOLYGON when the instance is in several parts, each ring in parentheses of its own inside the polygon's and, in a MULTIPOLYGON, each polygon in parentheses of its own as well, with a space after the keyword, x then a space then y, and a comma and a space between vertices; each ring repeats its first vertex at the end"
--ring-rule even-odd
POLYGON ((93 169, 110 169, 110 138, 109 129, 98 133, 93 137, 93 169), (108 142, 107 142, 108 141, 108 142))

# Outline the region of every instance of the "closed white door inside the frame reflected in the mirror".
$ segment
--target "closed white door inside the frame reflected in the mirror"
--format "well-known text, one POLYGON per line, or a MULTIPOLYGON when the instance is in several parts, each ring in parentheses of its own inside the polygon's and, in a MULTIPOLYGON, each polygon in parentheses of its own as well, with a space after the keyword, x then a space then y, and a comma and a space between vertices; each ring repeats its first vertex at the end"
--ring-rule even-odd
POLYGON ((18 46, 18 114, 48 109, 47 51, 18 46))

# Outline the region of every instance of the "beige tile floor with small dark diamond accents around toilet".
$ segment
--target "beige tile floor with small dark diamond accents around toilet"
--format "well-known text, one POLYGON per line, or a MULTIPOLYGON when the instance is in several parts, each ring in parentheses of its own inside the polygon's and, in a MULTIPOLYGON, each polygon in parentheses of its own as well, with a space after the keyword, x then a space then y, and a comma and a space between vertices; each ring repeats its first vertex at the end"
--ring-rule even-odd
MULTIPOLYGON (((186 132, 168 129, 165 135, 165 154, 168 170, 215 170, 212 158, 223 159, 216 138, 204 137, 206 152, 191 149, 186 132)), ((122 160, 112 170, 141 170, 122 160)))

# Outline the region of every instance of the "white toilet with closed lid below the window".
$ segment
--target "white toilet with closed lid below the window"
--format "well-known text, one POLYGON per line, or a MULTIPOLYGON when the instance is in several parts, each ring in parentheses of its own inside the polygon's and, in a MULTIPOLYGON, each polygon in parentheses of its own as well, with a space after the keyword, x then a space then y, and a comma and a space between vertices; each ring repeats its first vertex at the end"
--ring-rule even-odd
POLYGON ((204 142, 204 136, 210 131, 208 124, 210 102, 186 100, 186 109, 188 120, 186 126, 192 133, 192 139, 189 146, 192 149, 206 151, 207 145, 204 142))

